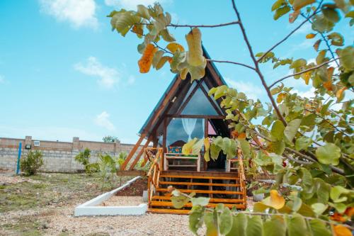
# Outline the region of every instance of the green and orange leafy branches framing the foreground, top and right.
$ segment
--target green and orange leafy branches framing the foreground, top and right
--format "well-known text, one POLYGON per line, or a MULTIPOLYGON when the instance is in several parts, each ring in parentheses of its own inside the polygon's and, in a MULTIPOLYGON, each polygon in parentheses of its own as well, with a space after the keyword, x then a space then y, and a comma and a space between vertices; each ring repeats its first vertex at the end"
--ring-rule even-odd
MULTIPOLYGON (((257 203, 254 213, 238 213, 219 205, 206 208, 206 199, 195 200, 179 191, 173 191, 173 203, 181 207, 192 201, 190 230, 196 233, 203 224, 207 235, 351 235, 353 215, 353 84, 354 47, 335 27, 354 23, 353 1, 332 0, 276 0, 271 6, 273 18, 289 16, 289 22, 299 22, 292 32, 265 52, 254 53, 246 34, 235 1, 232 8, 236 20, 219 25, 176 25, 171 15, 159 4, 137 7, 137 11, 113 11, 110 13, 114 30, 125 36, 132 31, 144 38, 138 45, 142 54, 139 60, 141 72, 151 67, 160 69, 169 62, 171 72, 185 79, 200 79, 205 74, 206 61, 202 55, 202 27, 223 27, 238 24, 241 36, 251 55, 253 65, 232 61, 252 69, 268 95, 269 103, 248 99, 242 91, 226 85, 210 90, 209 95, 220 102, 227 113, 232 138, 215 137, 211 140, 192 140, 183 152, 195 153, 205 147, 205 160, 215 159, 219 152, 233 157, 240 149, 246 172, 250 177, 260 170, 273 174, 276 182, 265 193, 268 196, 257 203), (346 21, 349 18, 349 24, 346 21), (343 21, 343 19, 345 19, 343 21), (311 24, 312 33, 304 40, 315 40, 316 59, 280 58, 274 49, 286 42, 305 24, 311 24), (169 28, 191 28, 185 35, 188 51, 176 43, 169 28), (163 42, 164 41, 164 42, 163 42), (167 44, 161 47, 161 43, 167 44), (288 74, 268 85, 260 67, 271 64, 274 69, 288 67, 288 74), (285 79, 312 86, 314 96, 299 96, 285 79), (260 122, 261 121, 261 122, 260 122), (193 150, 194 149, 194 150, 193 150), (286 189, 296 185, 299 191, 286 189), (285 187, 281 189, 280 186, 285 187)), ((342 27, 341 27, 342 28, 342 27)), ((343 27, 344 28, 344 27, 343 27)), ((347 30, 347 29, 346 29, 347 30)), ((353 230, 353 228, 352 228, 353 230)))

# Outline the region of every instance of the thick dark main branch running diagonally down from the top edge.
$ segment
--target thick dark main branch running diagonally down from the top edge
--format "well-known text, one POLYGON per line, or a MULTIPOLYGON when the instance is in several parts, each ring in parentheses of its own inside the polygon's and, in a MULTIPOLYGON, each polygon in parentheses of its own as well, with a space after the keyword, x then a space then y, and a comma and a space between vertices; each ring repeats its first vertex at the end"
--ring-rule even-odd
POLYGON ((240 17, 240 14, 239 14, 239 11, 237 10, 236 8, 236 4, 235 4, 235 1, 232 0, 232 7, 234 8, 234 11, 236 13, 236 16, 237 16, 237 20, 239 20, 239 26, 241 28, 241 32, 242 32, 242 35, 244 36, 244 41, 246 42, 246 45, 247 47, 249 48, 249 54, 251 55, 251 59, 253 60, 253 63, 254 63, 254 67, 256 69, 256 72, 258 74, 258 77, 261 79, 261 82, 262 82, 262 85, 265 89, 265 91, 267 91, 267 94, 268 94, 268 97, 270 99, 270 102, 272 103, 272 106, 275 110, 275 113, 277 113, 277 116, 278 118, 282 121, 282 123, 286 126, 287 125, 287 122, 285 120, 285 118, 282 116, 282 113, 280 113, 280 110, 277 106, 277 103, 275 103, 275 100, 273 98, 273 95, 270 93, 270 89, 268 89, 268 85, 267 83, 265 82, 265 79, 263 77, 263 74, 261 73, 261 70, 259 69, 259 66, 258 66, 258 62, 256 60, 256 57, 254 56, 253 54, 253 50, 252 50, 252 47, 251 47, 251 44, 249 43, 249 38, 247 38, 247 35, 246 35, 246 30, 244 28, 244 24, 242 23, 241 21, 241 17, 240 17))

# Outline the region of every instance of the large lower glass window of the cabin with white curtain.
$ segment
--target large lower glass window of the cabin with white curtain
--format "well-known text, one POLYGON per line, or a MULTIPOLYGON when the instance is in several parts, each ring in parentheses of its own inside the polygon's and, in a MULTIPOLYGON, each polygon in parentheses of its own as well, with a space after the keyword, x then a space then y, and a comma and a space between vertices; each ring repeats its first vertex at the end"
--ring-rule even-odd
POLYGON ((182 147, 188 140, 204 138, 204 119, 172 118, 167 126, 166 145, 182 147))

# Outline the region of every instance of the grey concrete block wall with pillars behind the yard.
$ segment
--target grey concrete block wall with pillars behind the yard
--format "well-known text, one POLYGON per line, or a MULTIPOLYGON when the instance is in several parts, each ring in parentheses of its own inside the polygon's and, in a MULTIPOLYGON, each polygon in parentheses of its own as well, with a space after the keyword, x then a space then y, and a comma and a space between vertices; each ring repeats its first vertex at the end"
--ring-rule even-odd
POLYGON ((79 137, 74 137, 72 142, 33 140, 31 136, 26 136, 25 139, 0 137, 0 169, 16 169, 20 142, 21 157, 29 152, 26 146, 30 147, 30 150, 42 151, 45 164, 41 170, 44 172, 77 172, 84 169, 81 164, 75 162, 74 157, 86 147, 91 150, 90 162, 96 162, 99 153, 118 156, 120 152, 129 153, 134 147, 119 141, 112 143, 81 141, 79 137), (35 146, 35 141, 40 141, 40 145, 35 146))

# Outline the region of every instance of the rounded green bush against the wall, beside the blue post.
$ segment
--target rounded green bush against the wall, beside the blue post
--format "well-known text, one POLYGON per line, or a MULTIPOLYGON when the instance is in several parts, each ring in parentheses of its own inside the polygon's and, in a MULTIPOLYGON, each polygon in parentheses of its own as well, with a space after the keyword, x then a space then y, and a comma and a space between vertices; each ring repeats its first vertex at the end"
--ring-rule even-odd
POLYGON ((25 175, 34 175, 43 164, 42 152, 30 151, 25 158, 21 159, 21 172, 24 172, 25 175))

